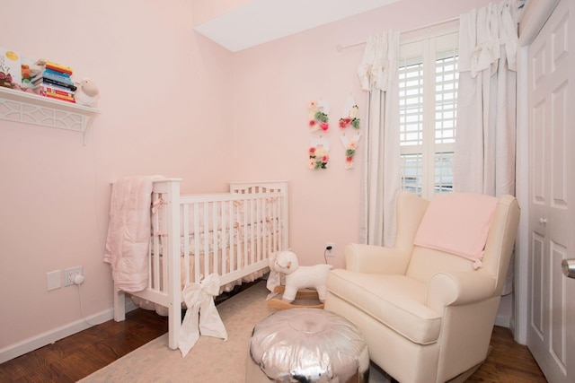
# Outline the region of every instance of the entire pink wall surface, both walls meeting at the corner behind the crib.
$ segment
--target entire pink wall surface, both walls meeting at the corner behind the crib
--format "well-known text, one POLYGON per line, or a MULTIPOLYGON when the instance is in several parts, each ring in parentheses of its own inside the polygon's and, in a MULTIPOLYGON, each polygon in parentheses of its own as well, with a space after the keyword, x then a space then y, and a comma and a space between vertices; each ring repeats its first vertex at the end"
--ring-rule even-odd
POLYGON ((287 179, 292 248, 314 264, 332 241, 330 260, 343 265, 342 248, 358 240, 361 166, 343 169, 333 125, 330 169, 306 168, 309 100, 329 100, 334 124, 352 92, 365 121, 367 94, 356 75, 363 48, 336 45, 487 3, 403 0, 231 54, 192 30, 188 0, 32 0, 25 17, 21 1, 4 0, 3 14, 18 16, 0 23, 3 46, 93 78, 102 115, 85 146, 75 132, 0 121, 0 350, 81 321, 75 287, 47 292, 52 270, 84 265, 84 314, 111 308, 102 263, 110 183, 130 174, 181 177, 188 192, 287 179))

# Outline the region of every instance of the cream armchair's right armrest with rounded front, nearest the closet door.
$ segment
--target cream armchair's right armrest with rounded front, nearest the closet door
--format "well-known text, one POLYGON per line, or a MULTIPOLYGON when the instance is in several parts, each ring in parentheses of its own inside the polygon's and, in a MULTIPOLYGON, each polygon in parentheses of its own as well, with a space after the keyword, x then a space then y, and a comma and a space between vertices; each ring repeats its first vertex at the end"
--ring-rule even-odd
POLYGON ((497 280, 482 271, 438 273, 428 283, 426 305, 442 312, 447 306, 464 305, 493 296, 497 280))

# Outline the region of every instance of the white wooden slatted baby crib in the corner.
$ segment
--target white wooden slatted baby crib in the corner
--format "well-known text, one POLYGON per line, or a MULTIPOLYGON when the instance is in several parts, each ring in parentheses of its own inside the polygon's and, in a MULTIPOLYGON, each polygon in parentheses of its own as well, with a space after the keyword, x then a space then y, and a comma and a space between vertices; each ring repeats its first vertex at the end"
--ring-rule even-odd
MULTIPOLYGON (((288 182, 233 182, 230 193, 182 196, 180 181, 154 181, 148 285, 129 292, 167 308, 171 349, 186 283, 216 273, 229 291, 265 274, 270 254, 288 248, 288 182)), ((114 286, 114 319, 125 318, 125 292, 114 286)))

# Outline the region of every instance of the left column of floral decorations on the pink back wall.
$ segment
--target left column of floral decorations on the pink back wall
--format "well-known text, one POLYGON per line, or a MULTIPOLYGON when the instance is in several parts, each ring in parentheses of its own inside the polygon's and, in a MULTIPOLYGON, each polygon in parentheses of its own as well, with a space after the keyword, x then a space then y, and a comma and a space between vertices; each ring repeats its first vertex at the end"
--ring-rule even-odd
POLYGON ((330 130, 330 104, 326 100, 310 101, 309 109, 309 131, 312 134, 319 134, 310 140, 307 151, 307 167, 311 170, 327 169, 330 163, 330 142, 323 138, 323 133, 330 130))

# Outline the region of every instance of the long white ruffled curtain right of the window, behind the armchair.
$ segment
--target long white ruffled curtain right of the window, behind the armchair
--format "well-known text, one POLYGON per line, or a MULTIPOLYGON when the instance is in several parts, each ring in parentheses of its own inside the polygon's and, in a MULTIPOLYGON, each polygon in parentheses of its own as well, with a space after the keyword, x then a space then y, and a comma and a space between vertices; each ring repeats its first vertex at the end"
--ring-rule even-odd
MULTIPOLYGON (((515 196, 517 2, 459 18, 454 191, 515 196)), ((503 294, 513 290, 513 262, 503 294)))

